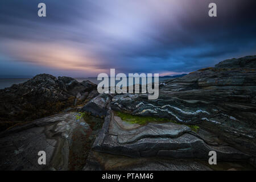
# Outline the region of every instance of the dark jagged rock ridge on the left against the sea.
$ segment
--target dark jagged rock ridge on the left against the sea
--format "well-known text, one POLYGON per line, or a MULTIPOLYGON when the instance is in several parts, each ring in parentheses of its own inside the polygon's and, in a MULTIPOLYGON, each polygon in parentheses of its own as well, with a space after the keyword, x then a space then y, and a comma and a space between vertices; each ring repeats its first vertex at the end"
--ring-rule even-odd
POLYGON ((36 75, 22 84, 0 90, 1 129, 13 125, 10 121, 29 121, 58 113, 97 94, 97 85, 90 81, 36 75))

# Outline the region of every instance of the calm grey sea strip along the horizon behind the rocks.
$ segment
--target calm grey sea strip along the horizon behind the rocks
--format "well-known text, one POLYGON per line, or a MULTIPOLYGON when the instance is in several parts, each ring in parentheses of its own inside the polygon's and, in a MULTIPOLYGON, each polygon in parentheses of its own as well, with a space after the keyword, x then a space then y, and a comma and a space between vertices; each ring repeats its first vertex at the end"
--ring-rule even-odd
MULTIPOLYGON (((159 81, 163 81, 163 80, 167 80, 169 78, 164 78, 164 77, 159 77, 159 81)), ((27 81, 29 79, 25 79, 25 78, 20 78, 20 79, 0 79, 0 89, 4 89, 7 87, 10 87, 13 84, 20 84, 23 83, 25 81, 27 81)), ((101 81, 98 81, 97 78, 76 78, 77 81, 81 82, 84 80, 89 80, 91 82, 93 82, 94 84, 98 84, 101 81)), ((117 82, 119 81, 115 81, 115 84, 117 84, 117 82)))

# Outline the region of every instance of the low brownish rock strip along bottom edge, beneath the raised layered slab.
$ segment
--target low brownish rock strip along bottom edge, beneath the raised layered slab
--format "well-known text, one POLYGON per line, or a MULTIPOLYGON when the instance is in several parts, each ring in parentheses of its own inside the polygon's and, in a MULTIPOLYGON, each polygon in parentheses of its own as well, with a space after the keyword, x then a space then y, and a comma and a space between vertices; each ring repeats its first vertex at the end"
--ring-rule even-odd
POLYGON ((84 170, 127 170, 127 171, 209 171, 209 170, 255 170, 244 162, 217 162, 209 165, 208 161, 197 159, 170 158, 129 158, 91 151, 86 159, 84 170))

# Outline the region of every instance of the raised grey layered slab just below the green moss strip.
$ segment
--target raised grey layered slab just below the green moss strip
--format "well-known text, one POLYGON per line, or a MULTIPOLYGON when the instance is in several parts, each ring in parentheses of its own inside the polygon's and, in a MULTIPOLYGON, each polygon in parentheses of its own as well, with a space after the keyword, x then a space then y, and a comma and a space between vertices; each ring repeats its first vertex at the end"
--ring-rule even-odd
POLYGON ((124 129, 111 113, 105 118, 102 130, 93 144, 93 150, 133 158, 167 157, 174 159, 207 159, 209 151, 216 151, 218 161, 245 160, 244 154, 226 145, 211 146, 204 137, 176 123, 148 123, 134 129, 124 129))

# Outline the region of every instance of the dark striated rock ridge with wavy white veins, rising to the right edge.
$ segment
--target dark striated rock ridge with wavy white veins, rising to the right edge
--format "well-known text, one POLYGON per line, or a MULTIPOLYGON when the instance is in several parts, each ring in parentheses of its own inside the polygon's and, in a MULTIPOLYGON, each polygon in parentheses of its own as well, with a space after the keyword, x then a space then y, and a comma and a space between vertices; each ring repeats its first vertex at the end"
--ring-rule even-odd
POLYGON ((159 98, 114 96, 111 109, 196 124, 238 150, 256 155, 256 56, 160 82, 159 98))

